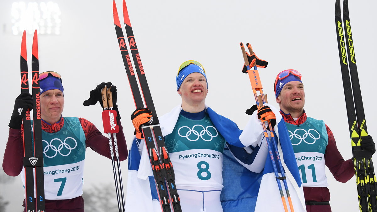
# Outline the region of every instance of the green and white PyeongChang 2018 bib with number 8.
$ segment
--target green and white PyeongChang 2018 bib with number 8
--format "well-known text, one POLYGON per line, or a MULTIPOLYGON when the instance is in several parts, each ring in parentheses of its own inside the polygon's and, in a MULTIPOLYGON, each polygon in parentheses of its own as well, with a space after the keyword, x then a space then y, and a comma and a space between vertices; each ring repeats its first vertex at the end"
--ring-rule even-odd
POLYGON ((222 189, 222 152, 225 139, 208 115, 191 120, 179 115, 173 132, 165 137, 179 186, 222 189))

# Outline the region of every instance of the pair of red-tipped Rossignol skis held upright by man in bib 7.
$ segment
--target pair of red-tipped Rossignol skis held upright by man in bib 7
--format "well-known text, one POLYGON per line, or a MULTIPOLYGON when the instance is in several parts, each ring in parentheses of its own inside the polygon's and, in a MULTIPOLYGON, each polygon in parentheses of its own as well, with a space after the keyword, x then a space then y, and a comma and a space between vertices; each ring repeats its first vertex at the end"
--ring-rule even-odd
MULTIPOLYGON (((21 41, 21 92, 29 92, 28 60, 26 52, 26 32, 21 41)), ((23 117, 24 160, 25 167, 25 202, 27 212, 44 212, 44 177, 43 177, 43 146, 41 129, 41 105, 39 91, 38 37, 34 31, 32 45, 32 97, 33 121, 30 111, 23 117), (33 135, 32 135, 33 132, 33 135), (32 137, 33 136, 33 137, 32 137), (33 142, 34 141, 34 142, 33 142), (33 170, 35 169, 35 174, 33 170), (34 189, 35 182, 35 189, 34 189), (35 190, 35 193, 34 193, 35 190), (34 199, 35 197, 35 199, 34 199)))

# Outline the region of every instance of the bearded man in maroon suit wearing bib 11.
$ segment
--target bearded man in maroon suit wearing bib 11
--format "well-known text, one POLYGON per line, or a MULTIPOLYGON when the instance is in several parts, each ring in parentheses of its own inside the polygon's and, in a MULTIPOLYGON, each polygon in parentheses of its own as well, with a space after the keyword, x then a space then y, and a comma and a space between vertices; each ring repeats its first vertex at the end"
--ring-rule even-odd
MULTIPOLYGON (((333 133, 322 120, 307 117, 303 109, 304 86, 298 71, 290 69, 280 72, 274 83, 274 91, 293 145, 307 212, 329 212, 330 193, 325 165, 337 181, 345 183, 355 174, 353 160, 343 159, 333 133)), ((373 154, 375 144, 372 137, 361 138, 362 147, 373 154)))

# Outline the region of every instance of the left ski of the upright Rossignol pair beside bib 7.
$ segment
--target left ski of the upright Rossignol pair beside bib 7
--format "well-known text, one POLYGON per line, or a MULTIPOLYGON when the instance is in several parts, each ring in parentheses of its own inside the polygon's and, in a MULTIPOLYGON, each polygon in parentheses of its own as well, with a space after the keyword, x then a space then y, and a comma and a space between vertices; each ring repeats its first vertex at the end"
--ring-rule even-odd
MULTIPOLYGON (((28 73, 28 58, 26 51, 26 31, 22 34, 21 41, 21 92, 29 94, 29 73, 28 73)), ((21 110, 24 108, 20 108, 21 110)), ((20 110, 19 109, 19 110, 20 110)), ((31 141, 31 122, 30 110, 27 110, 22 119, 22 132, 24 144, 24 162, 25 167, 25 209, 26 212, 35 212, 34 199, 34 172, 36 158, 34 157, 34 146, 31 141)))

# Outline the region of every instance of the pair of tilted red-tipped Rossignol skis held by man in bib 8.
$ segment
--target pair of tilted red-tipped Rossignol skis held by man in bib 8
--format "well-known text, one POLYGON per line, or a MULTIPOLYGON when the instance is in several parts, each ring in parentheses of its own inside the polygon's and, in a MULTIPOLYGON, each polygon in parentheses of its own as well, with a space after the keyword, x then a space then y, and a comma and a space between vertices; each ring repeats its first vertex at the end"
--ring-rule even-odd
POLYGON ((133 99, 135 101, 135 106, 136 108, 147 107, 150 111, 152 111, 153 115, 153 119, 151 119, 149 123, 151 125, 143 126, 142 130, 144 140, 146 142, 146 147, 149 152, 150 163, 152 166, 153 177, 155 178, 156 189, 159 195, 161 210, 163 212, 181 212, 182 209, 179 202, 178 192, 175 186, 173 166, 170 162, 169 154, 165 147, 164 138, 162 136, 158 117, 156 115, 155 106, 153 104, 152 95, 150 94, 143 65, 141 63, 139 52, 136 47, 135 37, 133 36, 133 31, 130 24, 130 19, 128 16, 125 0, 123 0, 124 24, 126 27, 126 33, 128 35, 128 41, 130 45, 130 50, 132 52, 133 61, 136 67, 136 73, 139 78, 141 91, 143 92, 145 105, 141 98, 139 86, 136 81, 135 69, 133 69, 131 56, 126 46, 126 40, 124 38, 123 31, 120 25, 120 20, 118 16, 118 11, 116 9, 115 1, 113 1, 113 15, 115 31, 118 37, 118 43, 123 57, 124 66, 126 68, 127 77, 129 79, 130 87, 132 90, 133 99), (166 187, 168 189, 166 189, 166 187))

